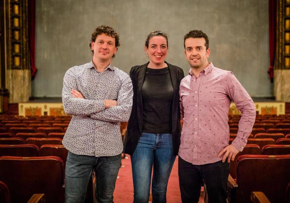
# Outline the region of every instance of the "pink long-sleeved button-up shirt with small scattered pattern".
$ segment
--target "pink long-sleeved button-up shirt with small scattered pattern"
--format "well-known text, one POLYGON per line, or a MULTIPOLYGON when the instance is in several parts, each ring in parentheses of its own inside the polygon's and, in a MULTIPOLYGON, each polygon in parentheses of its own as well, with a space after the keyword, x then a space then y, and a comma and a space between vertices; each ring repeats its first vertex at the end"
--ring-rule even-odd
POLYGON ((228 114, 231 101, 241 111, 237 137, 232 142, 239 151, 247 144, 256 110, 250 95, 231 71, 211 62, 198 78, 189 71, 180 83, 180 110, 183 117, 178 155, 195 165, 222 160, 218 153, 229 145, 228 114))

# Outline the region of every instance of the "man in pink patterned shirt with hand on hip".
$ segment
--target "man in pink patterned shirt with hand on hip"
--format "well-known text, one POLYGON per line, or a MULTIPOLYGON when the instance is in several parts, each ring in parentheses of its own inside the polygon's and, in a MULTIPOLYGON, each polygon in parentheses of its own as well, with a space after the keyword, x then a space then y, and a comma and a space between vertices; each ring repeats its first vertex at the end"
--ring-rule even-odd
POLYGON ((184 36, 191 69, 180 83, 183 127, 178 174, 182 202, 198 202, 204 181, 209 202, 226 202, 229 162, 244 149, 255 122, 255 106, 232 72, 208 62, 209 39, 201 30, 184 36), (237 137, 229 145, 231 101, 241 111, 237 137))

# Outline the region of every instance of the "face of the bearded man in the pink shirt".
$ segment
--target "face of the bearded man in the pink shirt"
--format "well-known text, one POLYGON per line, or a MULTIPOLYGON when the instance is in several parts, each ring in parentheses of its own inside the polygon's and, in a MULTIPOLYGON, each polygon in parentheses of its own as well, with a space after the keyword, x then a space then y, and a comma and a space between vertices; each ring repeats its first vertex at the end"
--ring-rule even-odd
POLYGON ((187 38, 185 44, 185 56, 191 68, 199 69, 208 66, 207 58, 210 49, 206 50, 204 38, 187 38))

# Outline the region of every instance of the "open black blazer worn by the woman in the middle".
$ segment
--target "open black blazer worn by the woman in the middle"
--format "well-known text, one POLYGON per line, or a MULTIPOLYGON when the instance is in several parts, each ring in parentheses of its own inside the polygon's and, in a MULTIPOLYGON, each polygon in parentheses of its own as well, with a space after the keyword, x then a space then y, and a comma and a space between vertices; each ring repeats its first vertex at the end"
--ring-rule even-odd
MULTIPOLYGON (((183 70, 178 66, 168 66, 171 77, 174 96, 172 104, 172 141, 173 153, 178 154, 180 145, 180 106, 179 106, 179 85, 184 78, 183 70)), ((136 149, 143 126, 143 106, 142 106, 142 85, 144 82, 146 69, 149 62, 141 66, 133 66, 130 70, 130 77, 133 83, 133 107, 127 126, 127 134, 124 140, 124 153, 132 155, 136 149)))

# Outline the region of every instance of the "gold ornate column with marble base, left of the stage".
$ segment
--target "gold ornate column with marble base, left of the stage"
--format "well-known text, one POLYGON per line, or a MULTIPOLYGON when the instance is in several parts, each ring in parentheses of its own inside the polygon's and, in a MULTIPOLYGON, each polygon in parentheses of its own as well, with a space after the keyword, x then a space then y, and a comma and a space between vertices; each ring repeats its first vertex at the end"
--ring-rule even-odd
POLYGON ((6 84, 10 93, 9 103, 26 102, 31 96, 27 0, 4 1, 7 39, 6 84))

